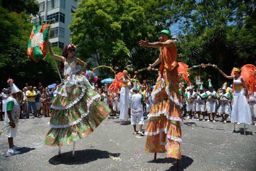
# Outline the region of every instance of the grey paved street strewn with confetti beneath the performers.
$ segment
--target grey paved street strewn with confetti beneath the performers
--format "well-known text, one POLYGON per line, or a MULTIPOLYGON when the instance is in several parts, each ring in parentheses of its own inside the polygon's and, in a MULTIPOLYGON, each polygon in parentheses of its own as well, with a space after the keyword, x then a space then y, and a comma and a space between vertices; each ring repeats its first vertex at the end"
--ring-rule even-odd
MULTIPOLYGON (((14 139, 23 146, 21 153, 5 156, 8 141, 0 137, 0 171, 171 171, 176 160, 159 154, 145 153, 146 137, 134 135, 130 122, 120 125, 119 119, 105 119, 87 138, 61 148, 45 146, 49 118, 22 119, 14 139), (113 160, 109 156, 117 157, 113 160)), ((230 122, 230 121, 229 121, 230 122)), ((146 124, 143 126, 145 129, 146 124)), ((181 171, 255 171, 256 126, 241 124, 233 133, 231 123, 207 123, 184 120, 181 144, 181 171)), ((3 127, 3 122, 0 122, 3 127)), ((112 157, 112 158, 113 158, 112 157)))

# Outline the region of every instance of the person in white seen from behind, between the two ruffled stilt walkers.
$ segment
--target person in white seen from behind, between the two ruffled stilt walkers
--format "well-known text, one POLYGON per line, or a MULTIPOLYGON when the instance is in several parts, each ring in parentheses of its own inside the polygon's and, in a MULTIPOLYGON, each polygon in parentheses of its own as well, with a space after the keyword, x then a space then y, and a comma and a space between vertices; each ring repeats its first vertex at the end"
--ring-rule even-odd
POLYGON ((134 133, 133 134, 141 134, 144 135, 142 130, 142 126, 144 124, 143 118, 143 96, 138 93, 138 89, 132 90, 134 94, 129 97, 129 101, 131 103, 131 124, 133 125, 134 133), (138 119, 139 123, 139 131, 136 130, 136 122, 138 119))

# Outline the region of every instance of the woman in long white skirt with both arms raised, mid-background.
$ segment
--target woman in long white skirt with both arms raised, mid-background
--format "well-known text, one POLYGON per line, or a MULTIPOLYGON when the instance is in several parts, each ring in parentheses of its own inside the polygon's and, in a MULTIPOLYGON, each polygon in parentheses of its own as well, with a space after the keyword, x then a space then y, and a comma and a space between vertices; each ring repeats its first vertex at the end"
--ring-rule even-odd
POLYGON ((117 81, 119 82, 120 80, 123 81, 123 85, 122 88, 120 90, 120 123, 123 124, 124 123, 124 119, 128 118, 128 107, 129 107, 129 89, 128 89, 128 80, 130 82, 132 82, 134 80, 134 78, 136 78, 136 75, 134 75, 134 77, 131 79, 128 77, 127 75, 127 71, 124 70, 123 71, 124 76, 120 77, 119 79, 117 78, 117 81))

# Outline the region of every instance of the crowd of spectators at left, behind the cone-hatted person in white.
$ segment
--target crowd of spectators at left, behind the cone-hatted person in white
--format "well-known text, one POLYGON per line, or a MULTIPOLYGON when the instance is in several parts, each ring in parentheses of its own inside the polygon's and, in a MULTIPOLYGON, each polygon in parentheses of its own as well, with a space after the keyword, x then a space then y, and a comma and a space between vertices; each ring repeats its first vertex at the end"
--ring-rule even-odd
MULTIPOLYGON (((56 87, 59 86, 59 82, 56 82, 56 85, 49 89, 47 86, 43 86, 41 82, 38 83, 38 86, 32 86, 28 83, 25 84, 25 87, 22 89, 23 96, 20 103, 20 115, 19 119, 27 118, 29 119, 30 113, 34 117, 49 117, 52 109, 51 103, 55 97, 56 87)), ((11 94, 11 88, 4 88, 0 93, 0 120, 4 120, 4 112, 6 108, 6 100, 11 94)))

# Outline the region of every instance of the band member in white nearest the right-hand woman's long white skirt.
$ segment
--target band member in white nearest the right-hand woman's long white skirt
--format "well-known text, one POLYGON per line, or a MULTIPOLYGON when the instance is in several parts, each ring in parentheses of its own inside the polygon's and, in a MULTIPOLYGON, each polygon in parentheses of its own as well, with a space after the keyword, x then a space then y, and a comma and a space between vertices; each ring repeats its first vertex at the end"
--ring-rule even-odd
POLYGON ((222 93, 219 94, 218 99, 220 100, 218 113, 224 120, 223 123, 227 123, 228 114, 230 113, 230 93, 226 92, 226 85, 222 87, 222 93))

